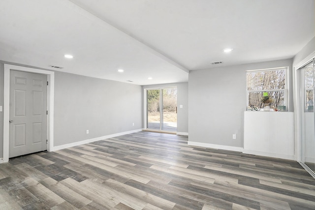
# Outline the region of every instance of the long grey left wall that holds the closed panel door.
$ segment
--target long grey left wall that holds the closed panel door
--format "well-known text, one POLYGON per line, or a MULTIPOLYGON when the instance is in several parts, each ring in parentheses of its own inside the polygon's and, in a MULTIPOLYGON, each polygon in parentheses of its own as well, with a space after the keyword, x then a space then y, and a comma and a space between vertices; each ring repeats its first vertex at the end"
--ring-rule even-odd
MULTIPOLYGON (((3 63, 0 62, 2 106, 3 63)), ((55 71, 54 96, 54 147, 143 127, 142 88, 139 85, 55 71), (87 129, 89 134, 86 134, 87 129)), ((2 148, 3 112, 0 112, 0 157, 3 157, 2 148)))

